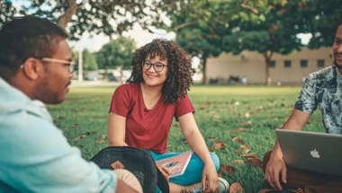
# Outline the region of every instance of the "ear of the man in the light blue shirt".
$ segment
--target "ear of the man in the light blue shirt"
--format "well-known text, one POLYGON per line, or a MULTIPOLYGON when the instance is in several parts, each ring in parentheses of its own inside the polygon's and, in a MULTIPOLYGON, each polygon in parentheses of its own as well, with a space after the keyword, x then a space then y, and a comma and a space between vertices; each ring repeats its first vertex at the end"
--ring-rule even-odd
POLYGON ((37 80, 44 70, 40 61, 34 57, 29 57, 23 63, 23 73, 31 80, 37 80))

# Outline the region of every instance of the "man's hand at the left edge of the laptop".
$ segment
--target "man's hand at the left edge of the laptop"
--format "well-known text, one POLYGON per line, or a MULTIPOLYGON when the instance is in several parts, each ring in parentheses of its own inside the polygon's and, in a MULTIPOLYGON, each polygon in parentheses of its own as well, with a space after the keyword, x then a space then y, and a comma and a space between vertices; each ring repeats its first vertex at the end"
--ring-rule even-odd
POLYGON ((271 154, 270 160, 266 165, 266 180, 275 189, 282 189, 280 180, 286 183, 286 165, 283 156, 271 154), (280 179, 281 178, 281 179, 280 179))

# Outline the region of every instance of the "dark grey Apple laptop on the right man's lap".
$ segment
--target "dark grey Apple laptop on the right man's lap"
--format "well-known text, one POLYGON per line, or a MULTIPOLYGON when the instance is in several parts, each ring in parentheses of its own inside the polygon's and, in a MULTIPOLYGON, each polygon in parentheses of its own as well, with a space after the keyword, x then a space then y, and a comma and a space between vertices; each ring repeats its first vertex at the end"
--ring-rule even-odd
POLYGON ((342 176, 342 135, 275 129, 286 165, 342 176))

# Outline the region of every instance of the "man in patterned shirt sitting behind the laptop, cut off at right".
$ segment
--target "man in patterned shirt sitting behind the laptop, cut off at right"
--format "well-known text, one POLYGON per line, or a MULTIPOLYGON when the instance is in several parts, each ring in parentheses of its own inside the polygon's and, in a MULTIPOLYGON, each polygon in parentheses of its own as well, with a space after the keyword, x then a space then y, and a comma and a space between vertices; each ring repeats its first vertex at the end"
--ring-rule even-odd
MULTIPOLYGON (((320 107, 326 132, 342 134, 342 21, 333 44, 333 55, 334 66, 312 73, 306 79, 284 129, 302 130, 311 113, 320 107)), ((274 189, 281 190, 285 187, 297 189, 288 192, 304 190, 305 193, 342 192, 342 177, 286 168, 278 142, 275 143, 273 152, 266 153, 264 157, 264 171, 268 185, 274 189)), ((276 191, 264 189, 259 192, 276 191)))

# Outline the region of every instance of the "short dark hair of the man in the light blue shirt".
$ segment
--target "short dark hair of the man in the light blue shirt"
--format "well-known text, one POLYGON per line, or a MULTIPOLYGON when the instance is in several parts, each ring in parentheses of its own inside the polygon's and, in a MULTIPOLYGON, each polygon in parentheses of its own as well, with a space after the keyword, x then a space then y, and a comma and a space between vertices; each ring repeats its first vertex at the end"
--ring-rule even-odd
POLYGON ((48 19, 14 18, 0 30, 0 67, 14 75, 27 58, 50 57, 54 52, 52 40, 56 38, 67 39, 67 33, 48 19))

